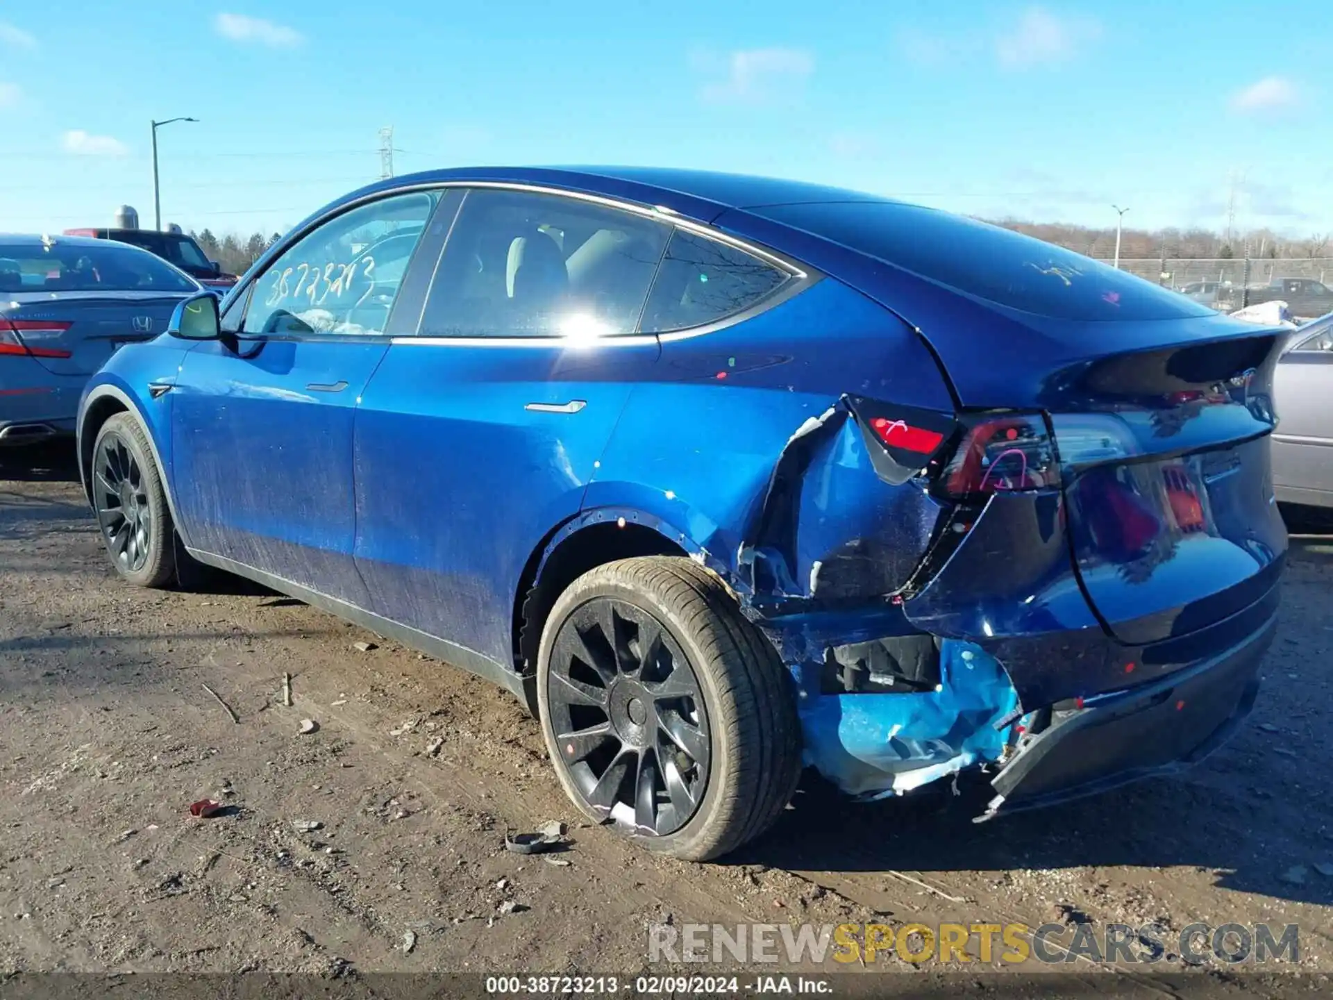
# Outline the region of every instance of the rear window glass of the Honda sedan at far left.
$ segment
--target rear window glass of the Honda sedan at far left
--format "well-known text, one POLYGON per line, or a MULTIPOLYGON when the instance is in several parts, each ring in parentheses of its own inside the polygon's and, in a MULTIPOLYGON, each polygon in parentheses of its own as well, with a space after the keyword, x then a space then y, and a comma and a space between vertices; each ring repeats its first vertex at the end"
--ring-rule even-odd
POLYGON ((115 243, 0 244, 0 292, 193 292, 185 275, 115 243))

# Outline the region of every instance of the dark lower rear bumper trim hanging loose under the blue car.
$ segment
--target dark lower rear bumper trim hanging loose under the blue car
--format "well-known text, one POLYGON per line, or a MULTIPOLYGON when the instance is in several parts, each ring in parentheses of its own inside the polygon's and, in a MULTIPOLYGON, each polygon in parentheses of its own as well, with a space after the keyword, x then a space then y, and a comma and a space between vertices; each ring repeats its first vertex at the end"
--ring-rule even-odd
POLYGON ((1004 764, 992 781, 997 795, 978 819, 1054 805, 1198 763, 1253 708, 1258 664, 1276 625, 1269 617, 1217 656, 1056 713, 1004 764))

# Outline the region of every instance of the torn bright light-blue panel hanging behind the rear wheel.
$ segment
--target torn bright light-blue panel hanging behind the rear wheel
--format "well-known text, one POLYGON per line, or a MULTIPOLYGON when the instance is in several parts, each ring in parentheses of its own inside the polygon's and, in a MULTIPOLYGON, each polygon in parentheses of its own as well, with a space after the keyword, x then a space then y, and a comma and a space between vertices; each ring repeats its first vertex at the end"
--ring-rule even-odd
POLYGON ((849 795, 902 795, 998 761, 1010 727, 996 723, 1013 716, 1017 704, 998 660, 946 639, 934 691, 801 699, 805 763, 849 795))

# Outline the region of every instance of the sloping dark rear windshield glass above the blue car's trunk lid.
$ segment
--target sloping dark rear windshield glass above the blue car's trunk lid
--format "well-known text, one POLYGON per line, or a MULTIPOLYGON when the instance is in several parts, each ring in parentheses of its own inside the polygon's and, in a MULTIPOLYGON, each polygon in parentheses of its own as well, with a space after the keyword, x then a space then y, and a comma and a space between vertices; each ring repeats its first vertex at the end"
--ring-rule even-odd
POLYGON ((822 236, 957 292, 1038 316, 1166 320, 1212 309, 1030 236, 897 201, 746 209, 822 236))

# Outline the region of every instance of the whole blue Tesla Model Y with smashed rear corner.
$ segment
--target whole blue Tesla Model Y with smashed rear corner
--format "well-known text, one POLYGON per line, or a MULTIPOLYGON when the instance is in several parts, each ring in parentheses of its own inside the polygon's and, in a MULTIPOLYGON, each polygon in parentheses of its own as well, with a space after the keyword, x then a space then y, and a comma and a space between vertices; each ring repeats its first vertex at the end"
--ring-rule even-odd
POLYGON ((513 691, 589 817, 708 859, 802 767, 982 817, 1249 712, 1281 331, 849 191, 453 169, 321 209, 93 377, 125 580, 197 564, 513 691))

